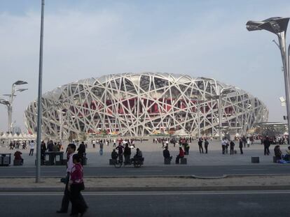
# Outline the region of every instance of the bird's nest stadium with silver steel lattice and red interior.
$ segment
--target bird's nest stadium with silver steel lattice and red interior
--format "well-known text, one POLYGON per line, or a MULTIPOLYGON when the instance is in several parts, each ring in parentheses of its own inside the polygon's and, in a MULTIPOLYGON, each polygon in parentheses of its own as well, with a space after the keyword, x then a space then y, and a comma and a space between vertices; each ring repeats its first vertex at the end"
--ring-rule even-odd
MULTIPOLYGON (((44 136, 71 133, 146 136, 174 134, 245 135, 268 120, 261 100, 213 78, 167 73, 125 73, 71 82, 43 94, 44 136), (219 129, 222 129, 221 131, 219 129)), ((25 110, 25 124, 36 132, 37 103, 25 110)))

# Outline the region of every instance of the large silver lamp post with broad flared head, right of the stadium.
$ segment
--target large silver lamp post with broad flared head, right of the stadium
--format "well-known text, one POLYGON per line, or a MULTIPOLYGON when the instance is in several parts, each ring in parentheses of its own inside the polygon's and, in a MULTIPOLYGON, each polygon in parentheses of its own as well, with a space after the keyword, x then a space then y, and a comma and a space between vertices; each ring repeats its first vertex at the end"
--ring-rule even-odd
MULTIPOLYGON (((286 50, 286 31, 289 22, 289 17, 271 17, 263 21, 248 21, 246 26, 248 31, 256 30, 267 30, 278 37, 279 40, 279 50, 281 52, 282 63, 284 68, 284 83, 285 83, 285 95, 286 95, 286 111, 287 111, 287 124, 288 133, 290 135, 290 100, 289 100, 289 52, 290 46, 288 47, 288 56, 286 50)), ((277 43, 276 43, 277 44, 277 43)))

